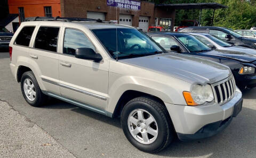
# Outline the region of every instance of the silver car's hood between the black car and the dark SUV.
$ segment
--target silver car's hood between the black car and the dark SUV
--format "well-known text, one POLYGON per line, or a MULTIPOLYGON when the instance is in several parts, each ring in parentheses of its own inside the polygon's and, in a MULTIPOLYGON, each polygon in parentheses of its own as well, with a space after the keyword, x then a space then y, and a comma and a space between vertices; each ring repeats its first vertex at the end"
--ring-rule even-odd
POLYGON ((212 56, 225 57, 225 58, 228 58, 228 59, 233 59, 233 60, 237 60, 237 61, 241 61, 241 62, 253 62, 253 61, 255 61, 256 60, 256 51, 254 51, 253 53, 249 53, 245 50, 246 49, 244 49, 242 51, 241 48, 238 51, 235 51, 235 50, 234 51, 227 51, 227 50, 216 49, 214 51, 205 52, 204 54, 212 55, 212 56))

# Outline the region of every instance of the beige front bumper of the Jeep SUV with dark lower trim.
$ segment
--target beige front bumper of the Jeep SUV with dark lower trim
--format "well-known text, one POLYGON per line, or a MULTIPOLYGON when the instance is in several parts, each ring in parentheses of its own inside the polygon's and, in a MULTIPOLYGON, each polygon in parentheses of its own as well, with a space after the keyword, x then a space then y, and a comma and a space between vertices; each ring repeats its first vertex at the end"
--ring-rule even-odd
POLYGON ((210 137, 225 129, 242 102, 242 93, 236 88, 234 97, 221 106, 215 103, 201 106, 165 104, 179 139, 186 141, 210 137))

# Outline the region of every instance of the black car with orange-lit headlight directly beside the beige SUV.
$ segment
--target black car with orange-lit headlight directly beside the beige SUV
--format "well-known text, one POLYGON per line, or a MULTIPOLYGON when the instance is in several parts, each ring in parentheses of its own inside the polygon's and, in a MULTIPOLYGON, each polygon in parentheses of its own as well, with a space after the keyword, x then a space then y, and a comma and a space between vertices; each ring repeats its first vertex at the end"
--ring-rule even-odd
POLYGON ((197 55, 229 66, 234 74, 236 85, 240 89, 256 87, 256 55, 210 48, 196 37, 186 33, 148 32, 147 35, 166 51, 197 55))

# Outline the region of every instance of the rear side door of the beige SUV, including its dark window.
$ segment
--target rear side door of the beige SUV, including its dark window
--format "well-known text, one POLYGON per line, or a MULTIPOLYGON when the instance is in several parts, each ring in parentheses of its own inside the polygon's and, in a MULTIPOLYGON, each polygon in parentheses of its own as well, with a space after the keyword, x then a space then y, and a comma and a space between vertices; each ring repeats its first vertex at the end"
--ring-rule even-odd
POLYGON ((34 49, 29 52, 30 58, 34 61, 31 64, 38 66, 39 71, 36 73, 42 79, 45 89, 54 94, 60 94, 58 38, 62 24, 44 22, 43 25, 39 25, 31 44, 34 49))

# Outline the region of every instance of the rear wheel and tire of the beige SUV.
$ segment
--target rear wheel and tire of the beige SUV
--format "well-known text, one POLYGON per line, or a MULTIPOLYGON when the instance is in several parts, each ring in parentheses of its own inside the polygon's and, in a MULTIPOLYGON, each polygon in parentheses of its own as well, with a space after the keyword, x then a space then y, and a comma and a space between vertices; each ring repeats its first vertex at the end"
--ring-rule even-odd
POLYGON ((20 87, 23 97, 31 106, 43 106, 46 102, 47 96, 42 93, 38 82, 36 81, 36 77, 32 71, 27 71, 22 74, 20 87))

